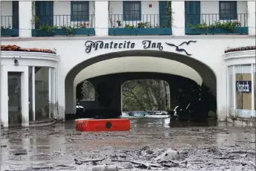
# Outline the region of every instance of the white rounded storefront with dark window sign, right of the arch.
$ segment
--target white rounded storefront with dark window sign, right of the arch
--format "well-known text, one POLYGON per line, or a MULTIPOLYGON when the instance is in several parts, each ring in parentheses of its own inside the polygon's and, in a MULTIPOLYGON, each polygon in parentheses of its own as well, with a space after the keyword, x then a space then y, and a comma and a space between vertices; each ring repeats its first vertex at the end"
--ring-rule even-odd
MULTIPOLYGON (((228 118, 252 118, 256 117, 255 108, 255 50, 250 51, 234 51, 223 55, 227 70, 227 106, 228 118), (244 79, 251 81, 249 85, 251 91, 244 93, 247 98, 242 97, 239 100, 241 93, 237 91, 237 81, 240 79, 237 74, 243 75, 244 79), (247 77, 246 77, 247 76, 247 77), (244 102, 243 102, 244 101, 244 102), (247 106, 240 106, 241 103, 246 103, 247 106)), ((243 81, 243 80, 242 80, 243 81)))

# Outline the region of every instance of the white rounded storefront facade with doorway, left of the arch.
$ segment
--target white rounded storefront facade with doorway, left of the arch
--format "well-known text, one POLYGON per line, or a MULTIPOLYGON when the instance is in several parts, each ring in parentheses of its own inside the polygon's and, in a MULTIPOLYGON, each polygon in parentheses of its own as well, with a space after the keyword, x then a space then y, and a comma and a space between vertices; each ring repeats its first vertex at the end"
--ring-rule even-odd
MULTIPOLYGON (((22 126, 28 126, 29 124, 29 111, 33 116, 31 116, 31 121, 35 120, 35 109, 41 108, 38 101, 40 100, 40 95, 35 94, 36 82, 45 81, 42 75, 39 75, 35 79, 35 68, 47 68, 48 75, 47 80, 48 85, 48 98, 49 102, 52 104, 57 103, 57 93, 56 86, 52 85, 57 83, 57 67, 58 67, 59 57, 55 54, 45 54, 45 53, 34 53, 34 52, 17 52, 17 51, 1 51, 1 123, 4 127, 8 127, 9 118, 8 112, 12 110, 16 111, 16 106, 11 106, 8 104, 9 96, 8 92, 13 90, 8 89, 8 73, 20 73, 21 74, 21 114, 22 114, 22 126), (13 65, 14 60, 17 59, 19 65, 13 65), (29 70, 31 68, 31 71, 29 70), (30 77, 32 76, 32 77, 30 77), (30 80, 31 79, 31 80, 30 80), (30 84, 31 82, 31 84, 30 84), (31 103, 31 105, 30 105, 31 103), (38 107, 36 107, 38 106, 38 107), (31 108, 31 109, 30 109, 31 108)), ((40 71, 39 71, 40 74, 40 71)), ((57 108, 52 110, 52 114, 49 117, 57 117, 57 108)))

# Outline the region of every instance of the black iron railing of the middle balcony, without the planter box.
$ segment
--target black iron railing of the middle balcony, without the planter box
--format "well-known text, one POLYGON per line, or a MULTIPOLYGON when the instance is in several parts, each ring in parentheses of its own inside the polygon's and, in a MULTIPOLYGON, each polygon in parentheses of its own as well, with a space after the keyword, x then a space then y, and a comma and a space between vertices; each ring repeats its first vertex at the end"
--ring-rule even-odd
POLYGON ((171 28, 171 16, 109 14, 109 28, 171 28))

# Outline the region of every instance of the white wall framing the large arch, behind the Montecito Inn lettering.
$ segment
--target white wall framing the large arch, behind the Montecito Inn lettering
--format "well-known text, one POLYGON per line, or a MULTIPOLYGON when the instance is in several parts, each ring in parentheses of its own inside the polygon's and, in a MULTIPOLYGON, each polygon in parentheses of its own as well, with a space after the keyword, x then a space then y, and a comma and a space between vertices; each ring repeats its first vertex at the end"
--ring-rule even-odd
MULTIPOLYGON (((109 54, 114 52, 122 52, 127 51, 128 49, 98 49, 97 51, 92 51, 87 54, 85 52, 85 42, 86 40, 91 40, 93 42, 96 41, 104 41, 104 42, 124 42, 124 40, 135 42, 135 48, 132 50, 144 50, 144 45, 142 45, 142 41, 144 39, 149 39, 148 36, 106 36, 106 37, 97 37, 92 36, 89 38, 70 38, 70 37, 62 37, 56 39, 52 38, 33 38, 33 39, 10 39, 10 38, 2 38, 2 45, 19 45, 24 48, 57 48, 57 54, 60 55, 61 60, 58 65, 58 102, 59 102, 59 114, 62 114, 59 118, 64 117, 65 112, 65 97, 68 99, 68 103, 70 106, 66 106, 67 109, 73 110, 75 105, 74 99, 74 75, 72 77, 73 80, 68 80, 70 83, 66 88, 69 91, 69 94, 65 94, 65 79, 73 68, 75 68, 81 62, 86 61, 86 59, 91 59, 103 54, 109 54), (73 82, 73 83, 72 83, 73 82), (73 104, 74 103, 74 104, 73 104)), ((188 59, 196 59, 205 65, 208 65, 212 71, 217 76, 217 108, 218 108, 218 117, 220 120, 225 120, 226 117, 226 65, 223 60, 222 55, 224 54, 225 48, 227 46, 230 47, 239 47, 239 46, 247 46, 247 45, 255 45, 255 37, 253 36, 178 36, 171 37, 170 36, 151 36, 150 39, 153 42, 161 42, 163 45, 163 51, 167 51, 173 54, 183 54, 183 52, 175 51, 175 47, 170 47, 165 44, 165 42, 171 42, 175 45, 179 45, 182 42, 188 42, 188 40, 196 40, 196 43, 191 43, 190 45, 182 45, 182 48, 185 48, 188 53, 192 54, 190 57, 182 56, 176 57, 176 59, 184 59, 188 61, 188 59)), ((155 51, 159 51, 158 49, 154 49, 155 51)), ((147 51, 147 50, 145 50, 147 51)), ((22 64, 22 62, 20 62, 22 64)), ((13 61, 10 65, 13 65, 13 61)), ((25 65, 28 65, 26 63, 25 65)), ((36 65, 42 65, 39 61, 36 65)), ((161 68, 161 66, 159 66, 161 68)), ((104 74, 103 68, 99 68, 104 74)), ((115 68, 112 68, 115 70, 115 68)), ((78 71, 79 72, 79 71, 78 71)), ((200 73, 204 74, 204 73, 200 73)), ((71 79, 71 78, 68 78, 71 79)), ((212 85, 214 86, 214 85, 212 85)))

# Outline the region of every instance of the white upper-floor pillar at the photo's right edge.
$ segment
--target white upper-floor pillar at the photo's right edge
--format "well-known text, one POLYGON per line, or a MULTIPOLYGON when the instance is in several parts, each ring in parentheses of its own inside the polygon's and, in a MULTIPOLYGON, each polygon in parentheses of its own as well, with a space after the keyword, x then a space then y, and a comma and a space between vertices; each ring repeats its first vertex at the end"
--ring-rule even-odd
POLYGON ((247 1, 247 9, 248 9, 248 34, 255 36, 255 1, 247 1))

